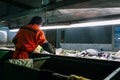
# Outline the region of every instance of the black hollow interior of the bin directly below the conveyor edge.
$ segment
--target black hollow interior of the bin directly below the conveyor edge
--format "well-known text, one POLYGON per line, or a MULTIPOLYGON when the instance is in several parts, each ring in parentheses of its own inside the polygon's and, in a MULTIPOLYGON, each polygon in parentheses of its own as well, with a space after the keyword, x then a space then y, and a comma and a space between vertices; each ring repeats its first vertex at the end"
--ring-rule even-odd
POLYGON ((107 80, 108 78, 108 80, 120 80, 120 62, 117 61, 48 54, 34 55, 34 57, 38 56, 50 57, 42 65, 41 60, 34 60, 34 64, 40 64, 39 69, 51 70, 67 76, 75 74, 91 80, 107 80))

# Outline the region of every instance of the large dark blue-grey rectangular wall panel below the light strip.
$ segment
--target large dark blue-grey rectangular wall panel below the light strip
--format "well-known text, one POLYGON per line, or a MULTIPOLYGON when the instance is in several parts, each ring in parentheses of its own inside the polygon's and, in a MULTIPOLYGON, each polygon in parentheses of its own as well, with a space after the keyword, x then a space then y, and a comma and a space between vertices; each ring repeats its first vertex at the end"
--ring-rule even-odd
MULTIPOLYGON (((62 33, 61 33, 62 34, 62 33)), ((64 43, 111 43, 112 26, 66 29, 64 43)))

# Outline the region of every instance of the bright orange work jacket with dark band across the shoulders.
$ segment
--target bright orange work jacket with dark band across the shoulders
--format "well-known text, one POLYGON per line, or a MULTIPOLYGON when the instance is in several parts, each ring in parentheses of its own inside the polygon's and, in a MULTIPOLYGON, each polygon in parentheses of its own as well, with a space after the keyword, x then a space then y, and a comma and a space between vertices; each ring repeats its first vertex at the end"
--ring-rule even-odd
POLYGON ((39 29, 37 24, 29 24, 20 28, 13 38, 15 44, 14 59, 28 59, 28 53, 32 52, 38 45, 46 43, 44 32, 39 29))

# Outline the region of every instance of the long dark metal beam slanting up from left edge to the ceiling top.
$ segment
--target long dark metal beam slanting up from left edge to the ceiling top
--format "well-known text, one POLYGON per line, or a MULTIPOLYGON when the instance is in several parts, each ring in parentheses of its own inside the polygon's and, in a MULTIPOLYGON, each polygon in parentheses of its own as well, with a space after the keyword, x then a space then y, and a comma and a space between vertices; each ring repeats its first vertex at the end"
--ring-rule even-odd
MULTIPOLYGON (((5 1, 8 1, 8 0, 5 0, 5 1)), ((31 9, 31 10, 27 10, 27 11, 16 13, 16 14, 11 14, 11 15, 8 15, 6 17, 0 18, 0 21, 11 19, 11 18, 16 18, 16 17, 28 15, 28 14, 38 13, 38 12, 42 12, 42 11, 55 10, 55 9, 58 9, 60 7, 63 7, 63 6, 68 6, 68 5, 72 5, 75 3, 82 3, 82 2, 87 2, 87 1, 90 1, 90 0, 63 0, 60 2, 56 2, 53 4, 46 5, 46 6, 42 6, 40 8, 31 9)))

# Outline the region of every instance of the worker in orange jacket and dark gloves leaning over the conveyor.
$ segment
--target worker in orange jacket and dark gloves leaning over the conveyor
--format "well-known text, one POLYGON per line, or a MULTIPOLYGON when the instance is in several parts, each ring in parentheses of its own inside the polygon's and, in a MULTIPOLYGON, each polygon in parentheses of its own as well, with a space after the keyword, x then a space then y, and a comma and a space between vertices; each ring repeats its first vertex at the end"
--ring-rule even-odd
POLYGON ((47 41, 44 32, 40 29, 41 24, 42 18, 35 16, 26 26, 19 29, 12 40, 15 44, 13 59, 29 59, 38 45, 42 46, 49 53, 55 54, 55 49, 47 41))

